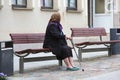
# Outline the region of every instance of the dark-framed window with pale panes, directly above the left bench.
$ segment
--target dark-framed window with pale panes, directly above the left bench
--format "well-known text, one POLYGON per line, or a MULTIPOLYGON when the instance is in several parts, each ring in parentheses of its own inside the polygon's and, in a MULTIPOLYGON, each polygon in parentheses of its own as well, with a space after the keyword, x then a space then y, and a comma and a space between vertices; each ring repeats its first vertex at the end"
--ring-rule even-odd
POLYGON ((12 7, 26 8, 27 0, 12 0, 12 7))

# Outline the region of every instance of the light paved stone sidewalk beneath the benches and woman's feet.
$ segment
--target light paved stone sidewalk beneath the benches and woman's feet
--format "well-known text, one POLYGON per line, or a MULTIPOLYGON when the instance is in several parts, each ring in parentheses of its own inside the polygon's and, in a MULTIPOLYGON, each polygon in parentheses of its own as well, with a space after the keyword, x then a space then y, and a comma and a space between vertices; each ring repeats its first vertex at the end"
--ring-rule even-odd
MULTIPOLYGON (((92 54, 90 53, 90 55, 92 54)), ((120 55, 111 57, 104 53, 100 56, 84 55, 81 63, 84 72, 81 70, 66 71, 65 66, 60 69, 55 60, 25 63, 25 73, 19 74, 18 58, 15 57, 15 60, 14 75, 8 77, 8 80, 119 80, 120 75, 120 55)), ((79 67, 76 58, 74 58, 74 62, 79 67)))

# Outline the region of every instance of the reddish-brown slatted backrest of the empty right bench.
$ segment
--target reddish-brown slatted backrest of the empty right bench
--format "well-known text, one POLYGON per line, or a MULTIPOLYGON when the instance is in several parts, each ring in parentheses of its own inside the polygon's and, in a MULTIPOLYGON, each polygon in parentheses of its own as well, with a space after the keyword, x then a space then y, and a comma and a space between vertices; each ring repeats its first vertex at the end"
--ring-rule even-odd
POLYGON ((71 37, 106 36, 104 28, 71 28, 71 37))

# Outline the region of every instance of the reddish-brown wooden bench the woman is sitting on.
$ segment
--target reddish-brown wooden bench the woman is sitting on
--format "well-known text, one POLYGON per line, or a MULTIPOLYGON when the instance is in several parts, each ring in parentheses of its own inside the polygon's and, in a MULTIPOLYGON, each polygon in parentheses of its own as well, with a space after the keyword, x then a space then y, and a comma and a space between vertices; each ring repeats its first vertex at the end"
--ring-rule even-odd
MULTIPOLYGON (((34 47, 33 45, 40 43, 38 46, 43 44, 44 33, 11 33, 11 39, 13 41, 14 53, 18 56, 19 59, 19 72, 24 72, 24 63, 33 62, 33 61, 45 61, 45 60, 55 60, 56 57, 51 56, 42 56, 42 57, 28 57, 29 54, 36 53, 48 53, 51 52, 49 48, 23 48, 24 45, 34 47), (31 44, 31 45, 30 45, 31 44), (23 48, 21 50, 15 50, 15 45, 19 45, 18 48, 23 48)), ((59 60, 59 65, 62 66, 62 60, 59 60)))

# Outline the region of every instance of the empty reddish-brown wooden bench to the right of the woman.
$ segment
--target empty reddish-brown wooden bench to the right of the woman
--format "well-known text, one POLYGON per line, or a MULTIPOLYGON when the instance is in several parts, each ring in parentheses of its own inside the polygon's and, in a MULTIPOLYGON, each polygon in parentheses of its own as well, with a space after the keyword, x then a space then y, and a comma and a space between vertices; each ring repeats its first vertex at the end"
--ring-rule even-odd
POLYGON ((111 56, 111 45, 119 43, 120 40, 106 40, 103 41, 103 36, 107 36, 104 28, 71 28, 71 37, 73 46, 78 48, 78 57, 82 61, 82 53, 97 52, 97 51, 108 51, 108 56, 111 56), (96 41, 84 41, 79 38, 98 37, 96 41), (78 38, 79 42, 75 42, 75 38, 78 38), (74 40, 74 41, 73 41, 74 40), (92 45, 96 45, 90 47, 92 45), (103 45, 99 47, 98 45, 103 45), (89 47, 89 48, 88 48, 89 47))

